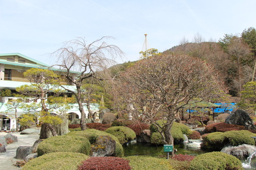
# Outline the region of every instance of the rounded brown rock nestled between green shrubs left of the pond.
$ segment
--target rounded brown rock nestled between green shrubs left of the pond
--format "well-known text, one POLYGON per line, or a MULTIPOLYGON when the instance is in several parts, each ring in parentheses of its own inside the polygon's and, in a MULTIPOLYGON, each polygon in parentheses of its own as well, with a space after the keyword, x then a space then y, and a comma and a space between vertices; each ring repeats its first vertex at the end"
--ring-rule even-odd
POLYGON ((114 154, 116 149, 116 141, 110 136, 99 136, 95 143, 91 145, 92 157, 104 157, 114 154))

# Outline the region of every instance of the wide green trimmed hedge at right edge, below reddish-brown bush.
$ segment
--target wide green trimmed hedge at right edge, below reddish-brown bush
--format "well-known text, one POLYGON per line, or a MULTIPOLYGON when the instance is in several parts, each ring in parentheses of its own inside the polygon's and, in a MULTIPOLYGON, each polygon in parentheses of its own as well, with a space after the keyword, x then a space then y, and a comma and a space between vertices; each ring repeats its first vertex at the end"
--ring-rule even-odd
POLYGON ((203 136, 204 142, 202 148, 212 151, 220 151, 225 144, 237 146, 240 144, 254 145, 254 139, 252 136, 256 136, 247 130, 242 131, 228 131, 228 132, 214 132, 203 136))

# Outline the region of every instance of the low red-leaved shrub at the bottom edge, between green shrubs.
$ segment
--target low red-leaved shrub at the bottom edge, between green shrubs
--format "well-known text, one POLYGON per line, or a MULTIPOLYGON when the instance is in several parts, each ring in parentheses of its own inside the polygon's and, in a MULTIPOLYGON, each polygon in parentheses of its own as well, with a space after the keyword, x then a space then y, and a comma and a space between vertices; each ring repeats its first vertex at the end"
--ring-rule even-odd
POLYGON ((119 157, 91 157, 78 170, 130 170, 129 161, 119 157))

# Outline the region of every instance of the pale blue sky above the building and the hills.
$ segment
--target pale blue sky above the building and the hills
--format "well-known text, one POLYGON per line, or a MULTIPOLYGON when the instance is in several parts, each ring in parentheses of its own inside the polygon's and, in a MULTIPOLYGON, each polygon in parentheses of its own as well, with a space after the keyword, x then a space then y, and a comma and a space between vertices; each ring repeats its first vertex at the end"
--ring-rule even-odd
POLYGON ((21 53, 47 64, 62 42, 112 36, 124 61, 139 59, 144 34, 160 52, 193 41, 256 28, 255 0, 0 0, 0 53, 21 53))

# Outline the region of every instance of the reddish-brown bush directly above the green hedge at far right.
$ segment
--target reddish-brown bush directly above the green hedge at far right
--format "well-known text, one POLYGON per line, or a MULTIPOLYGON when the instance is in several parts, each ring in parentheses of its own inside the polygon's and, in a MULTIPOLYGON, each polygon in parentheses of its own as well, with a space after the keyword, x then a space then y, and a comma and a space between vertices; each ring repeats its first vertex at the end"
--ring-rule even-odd
POLYGON ((205 127, 205 133, 245 130, 244 126, 226 124, 225 122, 210 124, 205 127))

